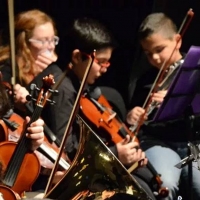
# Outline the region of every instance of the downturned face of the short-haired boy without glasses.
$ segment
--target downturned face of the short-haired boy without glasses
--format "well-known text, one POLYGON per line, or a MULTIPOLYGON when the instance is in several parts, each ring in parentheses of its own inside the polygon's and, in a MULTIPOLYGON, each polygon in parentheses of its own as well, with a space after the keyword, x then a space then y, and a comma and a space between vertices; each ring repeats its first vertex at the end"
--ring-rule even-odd
POLYGON ((162 64, 168 61, 171 55, 172 57, 168 62, 169 65, 179 60, 181 58, 179 52, 181 40, 179 40, 179 37, 178 34, 175 34, 172 38, 167 38, 162 32, 159 32, 142 40, 142 48, 151 65, 161 68, 162 64))

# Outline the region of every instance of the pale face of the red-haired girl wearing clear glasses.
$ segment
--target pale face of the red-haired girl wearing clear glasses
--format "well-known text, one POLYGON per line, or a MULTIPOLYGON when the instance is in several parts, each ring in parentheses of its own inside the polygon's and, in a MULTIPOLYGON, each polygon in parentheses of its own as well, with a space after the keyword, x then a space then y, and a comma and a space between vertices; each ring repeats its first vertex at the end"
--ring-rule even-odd
POLYGON ((29 49, 34 59, 37 59, 40 53, 46 53, 47 56, 53 55, 57 40, 53 25, 50 22, 36 26, 32 37, 29 39, 29 49))

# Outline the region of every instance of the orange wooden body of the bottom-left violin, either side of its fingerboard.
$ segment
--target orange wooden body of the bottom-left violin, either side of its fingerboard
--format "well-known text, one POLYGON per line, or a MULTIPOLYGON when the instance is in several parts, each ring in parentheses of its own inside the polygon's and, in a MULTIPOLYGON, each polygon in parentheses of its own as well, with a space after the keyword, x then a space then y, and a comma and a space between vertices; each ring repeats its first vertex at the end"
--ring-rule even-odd
MULTIPOLYGON (((1 142, 0 143, 0 159, 3 163, 3 168, 6 170, 10 159, 15 151, 17 143, 1 142)), ((13 170, 17 166, 13 166, 13 170)), ((34 153, 27 153, 24 157, 23 164, 20 167, 19 173, 14 185, 11 187, 13 191, 21 195, 24 191, 30 191, 32 184, 37 179, 40 173, 40 163, 38 157, 34 153)), ((12 179, 12 174, 10 175, 12 179)))

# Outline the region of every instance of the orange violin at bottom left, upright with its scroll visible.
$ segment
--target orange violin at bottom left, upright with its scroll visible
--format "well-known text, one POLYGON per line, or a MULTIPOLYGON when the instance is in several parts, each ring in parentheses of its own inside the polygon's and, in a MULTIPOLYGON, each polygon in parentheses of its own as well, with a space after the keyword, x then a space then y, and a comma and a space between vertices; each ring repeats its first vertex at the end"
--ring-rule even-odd
MULTIPOLYGON (((23 196, 24 191, 30 191, 32 184, 40 173, 40 162, 35 153, 30 151, 30 140, 26 137, 27 128, 36 121, 47 102, 47 94, 54 83, 53 76, 43 78, 43 88, 37 99, 36 108, 29 123, 23 126, 21 137, 16 142, 5 141, 0 143, 1 161, 5 172, 2 180, 3 186, 9 187, 14 193, 23 196), (28 171, 27 171, 28 170, 28 171), (28 172, 28 176, 27 176, 28 172)), ((3 187, 5 189, 5 187, 3 187)), ((0 192, 3 190, 0 187, 0 192)), ((8 199, 3 193, 5 199, 8 199)))

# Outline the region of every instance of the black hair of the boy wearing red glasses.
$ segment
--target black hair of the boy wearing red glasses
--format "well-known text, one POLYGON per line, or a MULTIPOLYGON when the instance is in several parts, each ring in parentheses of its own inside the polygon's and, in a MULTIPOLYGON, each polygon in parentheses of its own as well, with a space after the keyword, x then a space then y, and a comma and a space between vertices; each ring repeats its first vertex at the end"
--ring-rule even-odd
POLYGON ((63 45, 61 53, 64 54, 65 63, 66 59, 67 62, 71 61, 71 54, 75 49, 90 54, 94 49, 115 48, 117 44, 103 24, 95 19, 84 17, 73 21, 65 35, 63 45))

